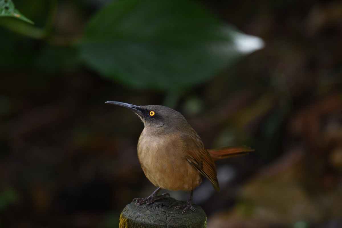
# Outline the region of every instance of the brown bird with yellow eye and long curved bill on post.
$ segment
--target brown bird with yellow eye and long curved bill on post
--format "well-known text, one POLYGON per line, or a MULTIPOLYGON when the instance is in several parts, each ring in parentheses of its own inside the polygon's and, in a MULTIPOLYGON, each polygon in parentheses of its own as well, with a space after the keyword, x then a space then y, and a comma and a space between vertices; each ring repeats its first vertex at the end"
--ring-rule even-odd
POLYGON ((245 155, 253 151, 248 146, 225 146, 206 149, 196 131, 178 111, 162 105, 133 105, 119 101, 106 101, 129 109, 137 114, 144 123, 144 129, 137 144, 137 155, 147 179, 157 189, 148 197, 135 198, 137 205, 151 204, 156 200, 170 196, 169 193, 157 195, 161 189, 190 192, 185 205, 175 206, 195 212, 193 190, 203 177, 220 191, 215 160, 245 155))

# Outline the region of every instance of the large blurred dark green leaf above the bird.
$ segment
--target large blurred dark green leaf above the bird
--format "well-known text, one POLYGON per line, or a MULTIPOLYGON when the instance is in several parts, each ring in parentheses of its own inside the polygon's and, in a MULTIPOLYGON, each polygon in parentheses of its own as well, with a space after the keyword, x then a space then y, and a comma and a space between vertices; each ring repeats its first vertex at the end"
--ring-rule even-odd
POLYGON ((174 90, 206 82, 241 56, 235 34, 193 1, 119 0, 90 20, 79 50, 110 80, 174 90))

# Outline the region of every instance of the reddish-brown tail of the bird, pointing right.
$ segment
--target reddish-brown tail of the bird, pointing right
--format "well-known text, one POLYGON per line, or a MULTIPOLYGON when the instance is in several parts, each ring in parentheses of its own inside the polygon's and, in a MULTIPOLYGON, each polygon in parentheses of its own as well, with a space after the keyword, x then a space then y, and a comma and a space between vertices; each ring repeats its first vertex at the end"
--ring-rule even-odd
POLYGON ((254 151, 254 149, 245 145, 224 146, 224 147, 219 147, 216 149, 208 149, 208 152, 214 161, 219 160, 219 159, 239 156, 239 155, 246 155, 248 154, 248 152, 251 152, 251 151, 254 151))

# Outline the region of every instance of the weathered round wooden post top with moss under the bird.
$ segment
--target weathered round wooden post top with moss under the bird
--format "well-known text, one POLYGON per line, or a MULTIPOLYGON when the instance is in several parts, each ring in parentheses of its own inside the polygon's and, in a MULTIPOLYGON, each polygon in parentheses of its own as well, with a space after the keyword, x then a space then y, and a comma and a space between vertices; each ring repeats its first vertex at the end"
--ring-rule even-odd
POLYGON ((188 210, 182 214, 183 209, 173 209, 174 206, 183 205, 184 201, 171 197, 160 199, 150 205, 128 204, 120 215, 119 228, 206 228, 207 215, 203 209, 193 204, 196 212, 188 210))

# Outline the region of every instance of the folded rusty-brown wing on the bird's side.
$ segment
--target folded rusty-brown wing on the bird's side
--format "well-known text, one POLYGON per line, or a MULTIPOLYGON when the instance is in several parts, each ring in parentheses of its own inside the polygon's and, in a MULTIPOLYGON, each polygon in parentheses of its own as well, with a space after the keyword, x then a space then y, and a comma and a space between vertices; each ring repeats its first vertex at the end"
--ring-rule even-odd
POLYGON ((196 133, 196 137, 183 135, 182 137, 185 147, 182 147, 186 154, 186 159, 205 177, 207 177, 214 189, 220 191, 219 182, 217 180, 217 172, 213 159, 196 133))

